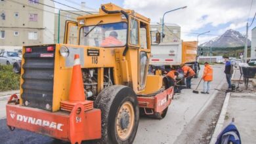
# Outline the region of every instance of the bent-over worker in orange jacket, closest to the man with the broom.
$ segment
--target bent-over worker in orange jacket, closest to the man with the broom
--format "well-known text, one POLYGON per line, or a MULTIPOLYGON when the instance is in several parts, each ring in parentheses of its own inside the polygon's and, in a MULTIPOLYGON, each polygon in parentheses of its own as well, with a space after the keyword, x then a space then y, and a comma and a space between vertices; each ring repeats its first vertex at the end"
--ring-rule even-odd
POLYGON ((196 75, 196 73, 191 67, 184 63, 181 64, 181 69, 184 72, 184 77, 186 78, 186 88, 191 88, 191 79, 196 75))

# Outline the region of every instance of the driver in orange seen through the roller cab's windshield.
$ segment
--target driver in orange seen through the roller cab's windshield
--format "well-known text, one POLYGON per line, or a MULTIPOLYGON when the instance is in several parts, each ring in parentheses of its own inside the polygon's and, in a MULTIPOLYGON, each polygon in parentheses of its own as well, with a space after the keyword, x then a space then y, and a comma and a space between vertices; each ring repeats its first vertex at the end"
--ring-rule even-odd
POLYGON ((109 47, 109 46, 123 46, 123 43, 117 39, 118 34, 116 31, 111 31, 109 37, 106 37, 100 46, 109 47))

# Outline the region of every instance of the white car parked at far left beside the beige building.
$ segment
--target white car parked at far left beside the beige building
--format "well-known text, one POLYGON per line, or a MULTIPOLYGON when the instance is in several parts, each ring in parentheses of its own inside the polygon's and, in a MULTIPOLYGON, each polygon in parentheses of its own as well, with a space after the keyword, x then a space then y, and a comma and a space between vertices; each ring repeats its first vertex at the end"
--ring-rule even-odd
POLYGON ((0 53, 0 64, 2 65, 12 65, 14 62, 21 62, 21 58, 18 52, 1 52, 0 53))

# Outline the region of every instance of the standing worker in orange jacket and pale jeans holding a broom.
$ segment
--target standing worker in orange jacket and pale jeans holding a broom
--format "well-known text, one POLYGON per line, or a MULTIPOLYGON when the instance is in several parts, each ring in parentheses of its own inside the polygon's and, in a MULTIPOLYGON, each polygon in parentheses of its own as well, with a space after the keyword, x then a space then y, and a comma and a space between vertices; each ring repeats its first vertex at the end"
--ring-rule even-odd
POLYGON ((209 94, 210 84, 213 81, 213 68, 209 65, 209 63, 204 63, 203 70, 203 92, 202 94, 209 94))

